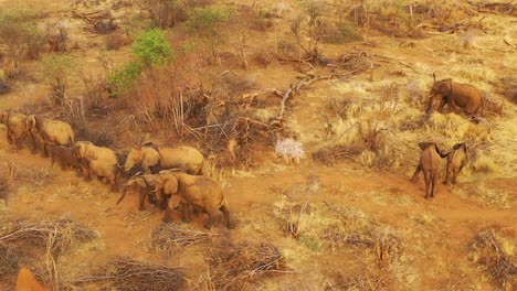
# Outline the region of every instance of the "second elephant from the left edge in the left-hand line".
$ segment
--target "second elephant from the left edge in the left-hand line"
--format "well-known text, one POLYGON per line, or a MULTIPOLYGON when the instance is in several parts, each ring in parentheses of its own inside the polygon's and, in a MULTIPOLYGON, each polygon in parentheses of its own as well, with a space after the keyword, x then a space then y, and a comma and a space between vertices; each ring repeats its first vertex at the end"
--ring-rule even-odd
POLYGON ((31 115, 27 118, 27 130, 31 133, 33 152, 35 152, 35 140, 38 140, 44 157, 49 155, 46 146, 60 144, 72 147, 74 144, 75 134, 72 127, 61 120, 31 115))

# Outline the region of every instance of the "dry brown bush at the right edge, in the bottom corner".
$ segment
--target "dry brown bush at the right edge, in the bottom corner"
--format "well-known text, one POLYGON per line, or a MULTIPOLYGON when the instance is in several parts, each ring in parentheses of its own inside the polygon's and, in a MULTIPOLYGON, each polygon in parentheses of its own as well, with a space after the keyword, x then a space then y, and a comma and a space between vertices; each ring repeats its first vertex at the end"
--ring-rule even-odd
POLYGON ((471 241, 471 257, 504 290, 517 287, 517 248, 493 229, 479 231, 471 241))

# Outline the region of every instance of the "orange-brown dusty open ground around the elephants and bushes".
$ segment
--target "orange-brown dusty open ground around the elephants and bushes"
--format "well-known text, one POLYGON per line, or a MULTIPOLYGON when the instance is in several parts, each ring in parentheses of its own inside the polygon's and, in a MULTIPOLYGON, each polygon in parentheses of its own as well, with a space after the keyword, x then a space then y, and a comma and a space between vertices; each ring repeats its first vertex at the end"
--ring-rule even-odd
MULTIPOLYGON (((30 2, 42 7, 39 1, 30 2)), ((274 6, 273 1, 270 2, 265 1, 262 6, 274 6)), ((0 7, 7 4, 8 0, 0 1, 0 7)), ((52 18, 70 21, 72 35, 85 47, 72 54, 77 60, 86 60, 81 66, 95 69, 95 56, 102 47, 94 43, 101 43, 102 36, 91 36, 81 31, 80 20, 71 19, 66 12, 70 10, 67 1, 44 3, 44 9, 52 18)), ((387 127, 403 120, 411 122, 422 115, 423 106, 410 105, 413 97, 407 89, 408 84, 418 84, 426 93, 432 84, 431 74, 435 72, 439 78, 453 77, 475 84, 503 100, 503 95, 496 93, 496 84, 499 78, 517 72, 517 53, 505 46, 502 37, 513 35, 517 40, 517 20, 510 15, 489 13, 485 17, 487 33, 477 34, 474 46, 468 50, 463 47, 456 35, 411 40, 415 47, 409 48, 400 46, 407 40, 384 36, 374 31, 367 34, 365 42, 325 46, 326 56, 331 60, 355 50, 367 51, 376 64, 373 79, 370 79, 369 73, 363 73, 319 82, 304 90, 289 103, 286 112, 287 123, 297 132, 307 152, 302 162, 286 165, 275 159, 271 151, 265 153, 266 162, 261 166, 236 171, 233 176, 222 181, 238 227, 226 230, 219 225, 211 233, 221 234, 233 241, 274 242, 283 251, 286 266, 292 270, 247 285, 246 290, 340 290, 345 288, 339 287, 339 278, 365 273, 387 276, 387 288, 390 290, 499 290, 500 287, 494 284, 479 265, 472 260, 468 244, 479 230, 488 228, 516 241, 517 118, 514 104, 504 101, 504 114, 489 118, 490 143, 484 153, 494 164, 494 170, 484 173, 467 169, 460 175, 458 185, 449 187, 440 184, 433 200, 424 200, 422 181, 418 184, 409 182, 419 155, 416 143, 436 139, 442 144, 454 144, 468 131, 463 130, 469 127, 464 117, 446 116, 445 120, 440 119, 434 125, 412 131, 390 131, 388 142, 405 144, 405 148, 394 149, 397 158, 387 166, 371 165, 367 154, 338 161, 330 166, 321 165, 309 157, 310 152, 334 142, 361 116, 378 112, 373 105, 357 109, 349 119, 325 116, 328 99, 344 96, 352 96, 356 100, 378 99, 379 90, 395 83, 400 88, 398 98, 401 104, 388 117, 379 117, 379 120, 387 127), (336 131, 331 137, 325 133, 326 118, 336 131), (481 192, 496 194, 487 194, 486 198, 486 195, 478 194, 481 192), (287 200, 286 196, 323 208, 326 204, 347 207, 374 218, 401 238, 402 255, 388 266, 378 267, 372 250, 357 246, 339 247, 334 251, 312 248, 286 236, 274 211, 275 205, 287 200), (489 198, 500 196, 504 196, 502 203, 489 198)), ((267 34, 266 39, 272 40, 272 34, 267 34)), ((126 60, 128 53, 129 47, 110 52, 115 62, 126 60)), ((27 66, 38 69, 35 62, 27 66)), ((266 68, 252 66, 247 72, 232 69, 247 74, 262 88, 286 87, 296 79, 296 71, 284 63, 266 68)), ((224 68, 214 71, 222 72, 224 68)), ((48 91, 49 88, 41 82, 20 80, 12 93, 0 96, 0 109, 17 109, 23 104, 42 100, 48 91)), ((279 101, 277 97, 271 98, 279 101)), ((0 133, 3 137, 3 128, 0 133)), ((339 142, 346 143, 348 138, 344 136, 339 142)), ((122 141, 117 147, 127 143, 122 141)), ((50 179, 40 181, 40 184, 19 182, 10 194, 9 204, 6 206, 0 201, 1 216, 32 220, 67 216, 101 234, 94 241, 60 258, 67 272, 81 274, 83 268, 103 265, 113 256, 130 256, 144 261, 182 266, 190 279, 189 289, 198 288, 197 280, 207 268, 202 255, 204 246, 190 247, 173 256, 157 255, 146 248, 150 231, 161 223, 160 211, 147 206, 145 212, 138 212, 136 195, 128 195, 116 205, 119 194, 110 193, 102 183, 86 183, 73 172, 63 172, 57 166, 51 169, 49 160, 31 154, 27 148, 15 152, 2 138, 0 166, 6 166, 6 161, 14 162, 19 169, 45 173, 50 179)), ((309 215, 306 219, 319 218, 309 215)), ((201 230, 201 219, 189 226, 201 230)), ((513 246, 515 251, 516 245, 513 246)), ((0 289, 12 290, 12 287, 9 282, 0 282, 0 289)))

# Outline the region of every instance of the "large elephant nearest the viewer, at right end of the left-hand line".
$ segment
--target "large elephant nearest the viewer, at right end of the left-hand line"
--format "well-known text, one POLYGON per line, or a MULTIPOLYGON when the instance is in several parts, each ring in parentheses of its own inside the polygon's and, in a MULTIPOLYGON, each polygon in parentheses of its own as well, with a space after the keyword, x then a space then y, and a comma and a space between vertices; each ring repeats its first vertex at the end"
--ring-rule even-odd
POLYGON ((167 205, 163 222, 170 222, 172 212, 181 204, 184 223, 191 220, 191 207, 196 207, 205 212, 209 215, 204 228, 210 229, 221 211, 226 220, 226 228, 234 228, 230 211, 228 208, 228 200, 223 193, 221 185, 210 177, 200 175, 190 175, 183 171, 160 171, 161 174, 170 174, 178 180, 178 192, 172 194, 167 205))

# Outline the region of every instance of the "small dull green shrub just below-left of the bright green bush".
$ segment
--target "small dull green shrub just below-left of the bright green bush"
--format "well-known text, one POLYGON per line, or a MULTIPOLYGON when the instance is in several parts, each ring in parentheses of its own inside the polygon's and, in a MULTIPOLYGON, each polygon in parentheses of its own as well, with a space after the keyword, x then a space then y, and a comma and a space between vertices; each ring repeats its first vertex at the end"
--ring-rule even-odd
POLYGON ((126 95, 140 78, 143 67, 140 63, 128 62, 110 72, 107 78, 107 89, 112 97, 126 95))

